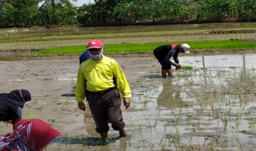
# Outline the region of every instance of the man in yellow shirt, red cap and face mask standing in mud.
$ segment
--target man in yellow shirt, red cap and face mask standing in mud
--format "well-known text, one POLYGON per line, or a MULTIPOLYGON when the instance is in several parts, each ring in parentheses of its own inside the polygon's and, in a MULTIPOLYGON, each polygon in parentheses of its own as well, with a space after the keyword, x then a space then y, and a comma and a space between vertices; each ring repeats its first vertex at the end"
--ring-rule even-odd
POLYGON ((130 106, 130 91, 126 76, 118 63, 102 55, 104 45, 94 39, 88 43, 90 59, 79 66, 75 98, 79 109, 85 111, 84 98, 89 103, 96 131, 104 140, 108 139, 108 123, 120 137, 126 137, 121 112, 121 95, 126 109, 130 106), (120 92, 119 92, 119 91, 120 92))

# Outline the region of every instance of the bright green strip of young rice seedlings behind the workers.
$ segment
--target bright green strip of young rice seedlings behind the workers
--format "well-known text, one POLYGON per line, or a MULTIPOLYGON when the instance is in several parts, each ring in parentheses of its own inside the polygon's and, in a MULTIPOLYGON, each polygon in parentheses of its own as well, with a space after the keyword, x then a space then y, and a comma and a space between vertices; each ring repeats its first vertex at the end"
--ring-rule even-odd
MULTIPOLYGON (((200 42, 175 42, 177 44, 188 43, 191 52, 204 49, 252 49, 256 48, 254 42, 243 42, 242 40, 216 40, 200 42)), ((170 43, 144 43, 144 44, 106 44, 105 53, 139 53, 154 50, 159 45, 170 43)), ((43 49, 31 53, 32 55, 60 55, 60 54, 81 54, 85 51, 85 45, 64 46, 51 49, 43 49)))

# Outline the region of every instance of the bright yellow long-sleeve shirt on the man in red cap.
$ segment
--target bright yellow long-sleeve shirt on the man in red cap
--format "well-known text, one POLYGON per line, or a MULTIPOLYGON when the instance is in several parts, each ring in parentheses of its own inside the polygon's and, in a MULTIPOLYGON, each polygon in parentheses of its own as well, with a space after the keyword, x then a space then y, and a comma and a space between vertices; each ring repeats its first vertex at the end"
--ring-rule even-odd
POLYGON ((77 86, 75 88, 77 102, 84 101, 86 90, 97 92, 114 87, 114 77, 116 78, 117 88, 123 98, 130 98, 132 92, 130 91, 126 76, 115 60, 102 56, 100 61, 88 59, 81 63, 78 70, 77 86))

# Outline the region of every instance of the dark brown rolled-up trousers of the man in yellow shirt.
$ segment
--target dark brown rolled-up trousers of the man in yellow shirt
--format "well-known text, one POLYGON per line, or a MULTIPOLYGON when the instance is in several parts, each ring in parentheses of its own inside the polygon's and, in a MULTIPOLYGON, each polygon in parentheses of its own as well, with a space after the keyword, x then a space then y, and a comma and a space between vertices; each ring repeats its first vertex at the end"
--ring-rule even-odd
POLYGON ((88 92, 88 103, 97 133, 108 132, 108 123, 112 124, 113 130, 123 129, 125 124, 120 107, 121 95, 117 88, 104 94, 88 92))

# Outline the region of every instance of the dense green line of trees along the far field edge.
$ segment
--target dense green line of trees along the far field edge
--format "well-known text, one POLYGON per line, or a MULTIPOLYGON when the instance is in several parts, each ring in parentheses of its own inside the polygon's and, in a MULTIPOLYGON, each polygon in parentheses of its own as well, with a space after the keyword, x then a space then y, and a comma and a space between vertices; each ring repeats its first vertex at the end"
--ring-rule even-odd
POLYGON ((94 0, 81 7, 74 1, 1 0, 0 27, 256 19, 256 0, 94 0))

